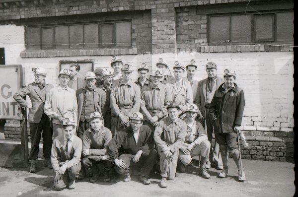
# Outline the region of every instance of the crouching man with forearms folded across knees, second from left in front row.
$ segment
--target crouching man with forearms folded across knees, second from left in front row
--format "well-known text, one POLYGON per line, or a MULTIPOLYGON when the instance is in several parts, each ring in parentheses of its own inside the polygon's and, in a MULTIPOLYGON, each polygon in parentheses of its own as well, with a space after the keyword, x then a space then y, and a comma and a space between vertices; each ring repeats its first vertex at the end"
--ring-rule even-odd
POLYGON ((89 120, 90 128, 84 132, 82 139, 82 163, 87 171, 92 170, 90 183, 97 181, 99 171, 103 172, 103 181, 109 182, 111 162, 107 146, 112 139, 112 133, 102 125, 103 119, 99 112, 92 112, 89 120))

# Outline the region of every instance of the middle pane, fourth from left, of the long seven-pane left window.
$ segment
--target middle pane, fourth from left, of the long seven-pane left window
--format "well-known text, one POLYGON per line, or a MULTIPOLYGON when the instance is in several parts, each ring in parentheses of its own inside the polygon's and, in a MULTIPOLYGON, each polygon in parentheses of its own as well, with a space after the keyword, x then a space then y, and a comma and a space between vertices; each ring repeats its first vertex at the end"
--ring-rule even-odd
POLYGON ((70 26, 70 48, 83 48, 83 25, 70 26))

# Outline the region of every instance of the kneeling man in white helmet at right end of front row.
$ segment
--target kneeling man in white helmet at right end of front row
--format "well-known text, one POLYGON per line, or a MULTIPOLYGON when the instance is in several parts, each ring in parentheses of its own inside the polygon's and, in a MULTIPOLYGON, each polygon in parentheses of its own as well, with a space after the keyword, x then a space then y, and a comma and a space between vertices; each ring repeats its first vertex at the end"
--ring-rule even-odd
POLYGON ((185 165, 190 164, 192 157, 201 155, 199 175, 209 179, 210 175, 205 167, 210 152, 210 142, 203 125, 195 120, 198 110, 195 104, 190 104, 186 109, 184 121, 187 125, 187 130, 183 146, 179 149, 179 169, 181 172, 185 172, 185 165))

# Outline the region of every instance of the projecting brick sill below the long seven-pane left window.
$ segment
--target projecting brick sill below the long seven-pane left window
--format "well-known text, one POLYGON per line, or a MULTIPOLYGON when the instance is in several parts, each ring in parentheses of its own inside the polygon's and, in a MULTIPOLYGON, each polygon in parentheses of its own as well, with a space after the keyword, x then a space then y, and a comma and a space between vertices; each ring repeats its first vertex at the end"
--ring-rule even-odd
POLYGON ((77 49, 77 50, 25 50, 21 58, 51 58, 69 56, 110 56, 110 55, 137 55, 138 49, 77 49))

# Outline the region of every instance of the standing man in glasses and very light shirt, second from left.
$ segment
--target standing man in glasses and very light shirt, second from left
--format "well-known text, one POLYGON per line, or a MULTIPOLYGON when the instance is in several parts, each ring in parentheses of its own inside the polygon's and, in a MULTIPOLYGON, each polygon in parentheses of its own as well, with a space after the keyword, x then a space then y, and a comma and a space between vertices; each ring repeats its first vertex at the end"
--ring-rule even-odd
POLYGON ((58 75, 59 85, 49 91, 45 102, 44 111, 53 120, 54 137, 63 133, 62 123, 66 116, 76 122, 77 103, 74 89, 68 86, 70 77, 69 70, 62 69, 58 75))

